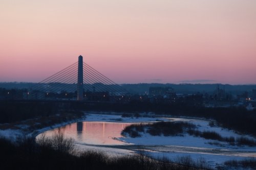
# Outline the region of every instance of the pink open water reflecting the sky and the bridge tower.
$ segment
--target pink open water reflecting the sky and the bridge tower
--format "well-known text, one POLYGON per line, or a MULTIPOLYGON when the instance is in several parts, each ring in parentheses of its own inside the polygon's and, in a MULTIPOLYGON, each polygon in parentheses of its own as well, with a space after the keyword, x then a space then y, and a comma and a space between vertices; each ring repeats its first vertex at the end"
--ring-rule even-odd
POLYGON ((121 131, 131 123, 111 123, 111 122, 77 122, 65 127, 46 131, 46 136, 51 136, 59 130, 65 136, 72 137, 77 142, 87 144, 124 144, 113 139, 121 137, 121 131))

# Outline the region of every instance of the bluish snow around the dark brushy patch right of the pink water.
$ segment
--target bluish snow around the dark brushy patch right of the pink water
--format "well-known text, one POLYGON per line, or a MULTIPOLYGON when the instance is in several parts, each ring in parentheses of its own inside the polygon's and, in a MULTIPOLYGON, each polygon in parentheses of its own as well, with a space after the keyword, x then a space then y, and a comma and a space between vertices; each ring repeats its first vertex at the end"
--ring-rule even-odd
MULTIPOLYGON (((210 127, 208 126, 208 121, 206 120, 195 120, 186 118, 171 118, 172 121, 186 121, 197 125, 197 130, 199 131, 215 131, 223 137, 241 137, 234 131, 223 129, 220 127, 210 127)), ((179 145, 185 147, 199 147, 199 148, 212 148, 212 149, 229 149, 234 151, 256 151, 256 147, 247 146, 237 146, 229 145, 227 142, 220 142, 217 140, 204 139, 202 137, 194 137, 188 134, 182 134, 180 136, 152 136, 148 133, 140 133, 141 137, 131 138, 131 137, 121 137, 122 141, 127 143, 134 143, 140 145, 179 145), (220 145, 209 144, 210 142, 218 142, 220 145)), ((251 136, 246 136, 253 138, 251 136)))

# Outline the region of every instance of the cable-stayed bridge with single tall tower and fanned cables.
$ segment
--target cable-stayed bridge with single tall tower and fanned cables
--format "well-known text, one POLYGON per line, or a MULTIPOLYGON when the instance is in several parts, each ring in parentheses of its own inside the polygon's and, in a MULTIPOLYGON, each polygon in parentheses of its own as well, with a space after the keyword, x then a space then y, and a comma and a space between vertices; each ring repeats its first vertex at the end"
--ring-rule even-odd
POLYGON ((125 94, 127 94, 125 89, 83 62, 82 56, 79 56, 78 62, 31 87, 27 98, 78 101, 94 98, 107 101, 113 96, 123 98, 125 94))

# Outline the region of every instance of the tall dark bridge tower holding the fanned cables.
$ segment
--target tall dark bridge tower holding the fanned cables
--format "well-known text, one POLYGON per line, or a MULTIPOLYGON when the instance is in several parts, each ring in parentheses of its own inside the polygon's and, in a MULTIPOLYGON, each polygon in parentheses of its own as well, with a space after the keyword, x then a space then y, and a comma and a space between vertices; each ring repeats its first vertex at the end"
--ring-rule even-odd
POLYGON ((78 74, 77 74, 77 101, 83 99, 83 62, 82 56, 78 57, 78 74))

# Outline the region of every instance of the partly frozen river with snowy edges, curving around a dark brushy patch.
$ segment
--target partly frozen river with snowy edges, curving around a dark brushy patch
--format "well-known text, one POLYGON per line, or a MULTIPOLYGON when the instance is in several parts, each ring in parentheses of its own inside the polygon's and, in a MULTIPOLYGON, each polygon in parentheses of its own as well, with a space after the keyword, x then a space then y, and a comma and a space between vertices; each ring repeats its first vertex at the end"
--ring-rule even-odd
POLYGON ((200 137, 183 136, 151 136, 143 134, 141 137, 131 138, 121 135, 121 131, 134 123, 150 123, 156 120, 186 121, 198 126, 201 131, 211 130, 222 136, 238 137, 239 134, 220 127, 209 127, 207 120, 188 118, 140 117, 123 118, 121 115, 88 114, 86 121, 77 122, 44 132, 51 136, 62 131, 65 136, 75 140, 79 150, 101 150, 110 155, 124 155, 143 150, 155 157, 165 156, 175 159, 177 156, 189 155, 194 159, 203 157, 211 165, 221 164, 226 160, 256 157, 255 147, 238 147, 223 144, 222 147, 209 144, 200 137))

